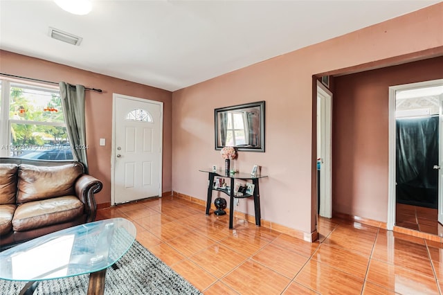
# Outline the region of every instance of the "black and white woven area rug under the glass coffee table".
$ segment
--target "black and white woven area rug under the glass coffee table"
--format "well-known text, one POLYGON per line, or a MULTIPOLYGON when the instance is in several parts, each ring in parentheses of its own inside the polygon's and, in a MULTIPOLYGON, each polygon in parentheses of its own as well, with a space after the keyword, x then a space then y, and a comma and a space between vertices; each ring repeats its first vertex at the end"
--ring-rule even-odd
MULTIPOLYGON (((116 266, 106 271, 105 294, 202 294, 137 241, 116 266)), ((89 274, 45 280, 34 294, 87 294, 88 283, 89 274)), ((0 294, 19 294, 25 284, 0 280, 0 294)))

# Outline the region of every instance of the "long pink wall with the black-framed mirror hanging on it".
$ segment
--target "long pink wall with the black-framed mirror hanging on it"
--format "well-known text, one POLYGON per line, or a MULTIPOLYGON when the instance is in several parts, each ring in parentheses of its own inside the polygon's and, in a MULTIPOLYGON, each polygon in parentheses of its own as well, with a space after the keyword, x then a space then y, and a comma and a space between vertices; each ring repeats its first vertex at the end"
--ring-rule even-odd
MULTIPOLYGON (((214 149, 214 109, 266 100, 266 152, 240 152, 235 166, 248 172, 257 164, 269 175, 260 182, 264 220, 305 233, 314 231, 316 108, 312 75, 359 64, 383 66, 386 62, 382 60, 430 48, 442 54, 442 10, 443 3, 438 3, 175 91, 173 189, 206 199, 207 175, 199 168, 223 163, 214 149)), ((397 58, 397 62, 405 61, 397 58)), ((377 173, 372 170, 368 175, 377 173)), ((251 200, 240 202, 239 211, 253 215, 251 200)))

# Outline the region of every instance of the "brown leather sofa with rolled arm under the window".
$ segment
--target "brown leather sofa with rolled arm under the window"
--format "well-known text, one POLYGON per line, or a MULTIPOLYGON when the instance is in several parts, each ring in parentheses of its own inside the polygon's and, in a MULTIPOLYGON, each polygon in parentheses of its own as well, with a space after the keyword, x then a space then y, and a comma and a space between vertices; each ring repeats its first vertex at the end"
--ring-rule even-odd
POLYGON ((92 222, 101 189, 80 162, 0 158, 0 249, 92 222))

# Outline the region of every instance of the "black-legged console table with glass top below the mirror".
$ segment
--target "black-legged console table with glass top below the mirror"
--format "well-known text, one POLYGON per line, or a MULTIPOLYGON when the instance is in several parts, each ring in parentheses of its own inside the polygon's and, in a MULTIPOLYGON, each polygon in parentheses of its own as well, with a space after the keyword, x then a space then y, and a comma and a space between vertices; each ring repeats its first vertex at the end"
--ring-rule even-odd
POLYGON ((224 172, 217 171, 213 172, 212 169, 202 169, 199 170, 201 172, 208 173, 208 200, 206 202, 206 215, 209 215, 210 204, 213 202, 213 190, 218 190, 222 193, 225 193, 230 197, 229 202, 229 229, 233 229, 233 214, 234 214, 234 199, 235 198, 246 198, 253 197, 254 198, 254 210, 255 210, 255 224, 257 226, 261 225, 261 213, 260 213, 260 188, 258 186, 258 179, 268 177, 267 175, 250 175, 247 173, 237 172, 235 174, 225 174, 224 172), (224 188, 215 188, 214 185, 214 177, 226 177, 230 179, 230 191, 224 188), (252 181, 254 185, 254 192, 252 195, 244 194, 242 196, 234 195, 234 181, 235 179, 241 179, 244 181, 252 181))

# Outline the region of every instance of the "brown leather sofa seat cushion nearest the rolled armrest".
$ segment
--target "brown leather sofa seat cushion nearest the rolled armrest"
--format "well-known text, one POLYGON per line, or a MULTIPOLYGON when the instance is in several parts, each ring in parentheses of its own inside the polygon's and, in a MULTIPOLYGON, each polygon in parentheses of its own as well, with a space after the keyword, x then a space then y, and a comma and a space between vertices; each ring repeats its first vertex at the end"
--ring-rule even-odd
POLYGON ((75 196, 55 197, 17 206, 12 218, 14 231, 29 231, 73 220, 83 214, 83 203, 75 196))

